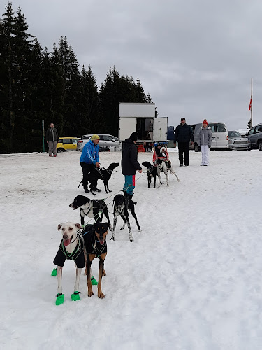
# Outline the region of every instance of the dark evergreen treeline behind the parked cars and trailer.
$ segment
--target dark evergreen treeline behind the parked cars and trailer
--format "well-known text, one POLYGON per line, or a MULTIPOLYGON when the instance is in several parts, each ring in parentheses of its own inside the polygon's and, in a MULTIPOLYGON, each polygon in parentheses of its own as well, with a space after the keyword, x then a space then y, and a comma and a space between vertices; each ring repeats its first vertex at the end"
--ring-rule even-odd
POLYGON ((62 36, 52 52, 41 48, 19 7, 9 1, 0 20, 0 153, 43 150, 45 130, 54 122, 59 136, 92 132, 118 134, 119 102, 152 102, 140 80, 108 69, 98 87, 91 66, 78 59, 62 36))

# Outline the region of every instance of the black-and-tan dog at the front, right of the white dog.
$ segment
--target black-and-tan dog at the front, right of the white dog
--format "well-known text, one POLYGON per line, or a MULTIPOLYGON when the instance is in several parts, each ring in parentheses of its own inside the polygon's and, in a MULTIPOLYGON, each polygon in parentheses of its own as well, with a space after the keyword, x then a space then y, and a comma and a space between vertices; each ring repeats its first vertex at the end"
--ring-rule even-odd
POLYGON ((91 297, 94 295, 91 283, 91 265, 94 258, 99 258, 99 283, 97 286, 98 297, 103 299, 105 295, 102 293, 102 276, 105 276, 104 262, 107 254, 106 235, 108 234, 109 223, 95 223, 94 225, 87 225, 84 233, 84 244, 87 252, 87 293, 91 297))

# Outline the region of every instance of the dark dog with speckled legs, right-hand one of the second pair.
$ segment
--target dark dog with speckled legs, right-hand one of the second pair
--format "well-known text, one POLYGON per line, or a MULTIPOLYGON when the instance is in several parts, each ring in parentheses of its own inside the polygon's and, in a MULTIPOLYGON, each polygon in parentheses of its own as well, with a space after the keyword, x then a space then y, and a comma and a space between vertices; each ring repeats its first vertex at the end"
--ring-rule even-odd
POLYGON ((113 200, 114 203, 114 223, 113 223, 113 228, 112 228, 112 237, 111 239, 115 241, 115 226, 117 225, 117 216, 121 216, 124 225, 120 230, 124 229, 124 226, 127 223, 127 227, 129 228, 129 241, 133 241, 132 237, 132 232, 131 232, 131 227, 130 227, 130 222, 129 222, 129 211, 131 211, 131 214, 136 220, 136 225, 138 225, 138 230, 141 231, 139 223, 138 223, 138 218, 136 217, 135 213, 135 206, 133 204, 133 201, 129 199, 128 196, 126 195, 116 195, 113 200))

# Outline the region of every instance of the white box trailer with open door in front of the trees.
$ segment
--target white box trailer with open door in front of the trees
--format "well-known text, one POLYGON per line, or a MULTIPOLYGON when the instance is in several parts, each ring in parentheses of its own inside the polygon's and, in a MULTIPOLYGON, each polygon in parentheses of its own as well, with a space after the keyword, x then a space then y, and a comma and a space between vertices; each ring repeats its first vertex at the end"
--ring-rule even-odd
POLYGON ((138 132, 138 142, 166 141, 168 117, 155 117, 154 104, 119 103, 119 132, 121 141, 138 132))

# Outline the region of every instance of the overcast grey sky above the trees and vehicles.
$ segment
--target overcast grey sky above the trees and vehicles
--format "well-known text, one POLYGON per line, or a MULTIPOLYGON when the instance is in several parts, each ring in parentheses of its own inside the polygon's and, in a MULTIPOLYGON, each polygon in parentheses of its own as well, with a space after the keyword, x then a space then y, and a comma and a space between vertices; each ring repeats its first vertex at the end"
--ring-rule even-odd
MULTIPOLYGON (((0 0, 1 14, 8 0, 0 0)), ((61 36, 98 85, 115 66, 140 79, 168 125, 262 123, 261 0, 13 0, 29 33, 52 50, 61 36)))

